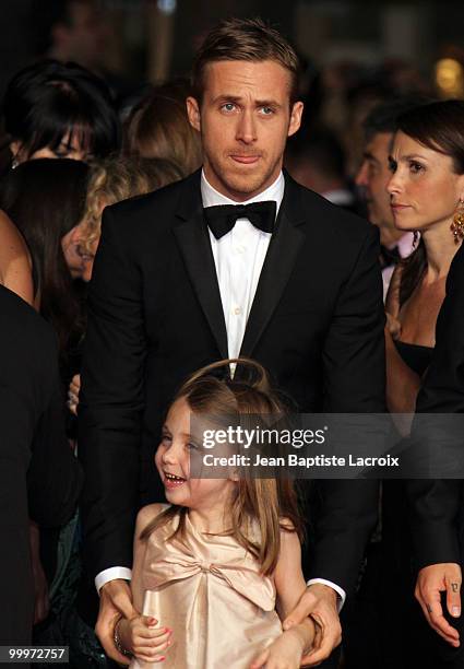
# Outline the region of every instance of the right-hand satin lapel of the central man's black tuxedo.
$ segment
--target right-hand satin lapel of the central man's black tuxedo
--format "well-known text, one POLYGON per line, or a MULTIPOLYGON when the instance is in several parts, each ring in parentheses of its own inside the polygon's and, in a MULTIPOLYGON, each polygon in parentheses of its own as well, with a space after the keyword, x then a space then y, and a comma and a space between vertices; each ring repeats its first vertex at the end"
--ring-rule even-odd
POLYGON ((285 174, 285 192, 269 245, 257 292, 248 318, 240 355, 252 357, 282 293, 290 278, 305 234, 298 228, 305 222, 299 187, 285 174))

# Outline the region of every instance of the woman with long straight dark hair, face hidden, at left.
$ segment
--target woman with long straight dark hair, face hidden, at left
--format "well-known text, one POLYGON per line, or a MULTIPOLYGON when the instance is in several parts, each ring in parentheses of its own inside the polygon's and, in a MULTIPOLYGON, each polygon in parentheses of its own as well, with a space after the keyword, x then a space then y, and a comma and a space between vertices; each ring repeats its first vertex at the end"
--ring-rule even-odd
POLYGON ((64 376, 71 341, 81 331, 72 278, 82 259, 70 251, 69 239, 84 213, 88 174, 79 161, 31 161, 7 175, 1 191, 1 207, 28 246, 34 305, 58 334, 64 376))

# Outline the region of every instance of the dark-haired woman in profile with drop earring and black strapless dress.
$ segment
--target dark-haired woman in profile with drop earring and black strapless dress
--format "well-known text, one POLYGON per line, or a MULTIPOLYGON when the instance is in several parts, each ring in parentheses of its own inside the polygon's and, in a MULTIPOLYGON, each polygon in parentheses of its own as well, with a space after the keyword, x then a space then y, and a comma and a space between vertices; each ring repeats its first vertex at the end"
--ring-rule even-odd
MULTIPOLYGON (((397 127, 388 191, 395 226, 414 232, 416 248, 397 265, 386 296, 386 401, 392 413, 409 414, 394 419, 407 436, 433 352, 448 272, 464 237, 464 102, 421 105, 403 114, 397 127)), ((437 667, 439 637, 414 601, 417 568, 404 481, 384 483, 382 507, 384 666, 437 667)))

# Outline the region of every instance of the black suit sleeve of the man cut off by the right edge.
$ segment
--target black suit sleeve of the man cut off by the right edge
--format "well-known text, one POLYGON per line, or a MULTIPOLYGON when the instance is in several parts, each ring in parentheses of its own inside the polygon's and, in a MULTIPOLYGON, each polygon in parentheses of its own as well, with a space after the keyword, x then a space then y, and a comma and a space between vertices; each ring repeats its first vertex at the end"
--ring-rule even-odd
MULTIPOLYGON (((419 413, 464 413, 463 305, 464 246, 461 246, 447 279, 447 296, 437 321, 437 343, 417 398, 419 413)), ((461 469, 463 462, 464 450, 461 469)), ((409 481, 407 491, 419 568, 440 562, 464 564, 464 482, 409 481)))

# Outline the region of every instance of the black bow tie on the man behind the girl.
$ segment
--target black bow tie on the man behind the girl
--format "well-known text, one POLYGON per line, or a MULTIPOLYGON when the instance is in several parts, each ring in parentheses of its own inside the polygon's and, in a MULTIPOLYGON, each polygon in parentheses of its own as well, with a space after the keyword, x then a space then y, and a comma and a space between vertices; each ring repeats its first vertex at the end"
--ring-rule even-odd
POLYGON ((207 226, 216 239, 231 231, 237 219, 248 219, 254 227, 266 233, 274 230, 277 204, 274 200, 265 202, 251 202, 251 204, 219 204, 206 207, 204 215, 207 226))

